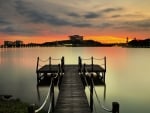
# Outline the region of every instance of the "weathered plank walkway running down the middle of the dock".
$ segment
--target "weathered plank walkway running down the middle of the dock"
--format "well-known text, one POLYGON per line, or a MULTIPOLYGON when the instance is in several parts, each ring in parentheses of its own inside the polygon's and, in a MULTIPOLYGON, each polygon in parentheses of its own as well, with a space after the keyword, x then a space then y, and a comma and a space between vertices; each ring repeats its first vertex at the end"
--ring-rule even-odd
POLYGON ((65 66, 54 113, 91 113, 78 66, 65 66))

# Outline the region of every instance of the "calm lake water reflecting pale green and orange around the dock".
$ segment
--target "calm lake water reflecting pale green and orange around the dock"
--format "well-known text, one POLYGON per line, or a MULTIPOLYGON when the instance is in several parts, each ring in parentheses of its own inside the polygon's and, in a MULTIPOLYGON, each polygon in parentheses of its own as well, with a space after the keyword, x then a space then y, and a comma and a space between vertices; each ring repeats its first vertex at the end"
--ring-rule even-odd
MULTIPOLYGON (((40 105, 47 94, 47 87, 36 88, 37 57, 47 59, 65 57, 66 64, 77 64, 78 56, 107 57, 106 99, 104 87, 96 91, 101 103, 111 109, 113 101, 120 103, 120 113, 150 113, 150 49, 145 48, 0 48, 0 94, 11 94, 27 103, 40 105)), ((58 62, 52 62, 58 63, 58 62)), ((87 62, 90 63, 90 62, 87 62)), ((99 64, 99 62, 95 62, 99 64)), ((89 95, 86 88, 87 95, 89 95)), ((94 97, 96 98, 96 97, 94 97)), ((107 113, 98 105, 97 113, 107 113)), ((95 113, 96 113, 95 111, 95 113)))

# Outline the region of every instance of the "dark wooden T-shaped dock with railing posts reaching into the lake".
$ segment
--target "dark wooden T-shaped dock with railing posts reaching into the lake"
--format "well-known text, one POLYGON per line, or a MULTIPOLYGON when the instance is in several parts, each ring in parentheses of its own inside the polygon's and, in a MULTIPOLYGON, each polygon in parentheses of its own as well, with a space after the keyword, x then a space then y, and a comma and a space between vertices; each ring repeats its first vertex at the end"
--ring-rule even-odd
MULTIPOLYGON (((93 74, 96 74, 96 79, 99 80, 98 82, 105 86, 106 57, 104 58, 104 68, 100 65, 93 64, 93 59, 91 57, 91 65, 82 64, 80 57, 78 64, 64 65, 64 57, 62 57, 60 64, 55 65, 51 64, 50 58, 49 64, 39 68, 38 57, 36 69, 37 85, 40 86, 42 81, 45 83, 48 77, 53 79, 57 75, 61 78, 56 105, 54 105, 54 99, 52 99, 52 111, 54 113, 91 113, 93 111, 93 74), (87 73, 89 76, 86 76, 87 73), (85 81, 84 77, 88 77, 88 79, 85 81), (88 103, 85 94, 86 84, 90 84, 90 103, 88 103)), ((51 88, 52 94, 54 94, 54 88, 51 88)))

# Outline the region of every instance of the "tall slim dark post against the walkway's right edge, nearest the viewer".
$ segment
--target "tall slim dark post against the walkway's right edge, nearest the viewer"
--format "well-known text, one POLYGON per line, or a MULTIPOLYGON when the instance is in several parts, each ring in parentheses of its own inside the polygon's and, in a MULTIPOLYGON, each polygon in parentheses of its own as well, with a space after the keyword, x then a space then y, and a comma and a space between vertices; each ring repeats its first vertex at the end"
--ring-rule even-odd
POLYGON ((91 74, 90 86, 90 108, 91 112, 93 112, 93 74, 91 74))

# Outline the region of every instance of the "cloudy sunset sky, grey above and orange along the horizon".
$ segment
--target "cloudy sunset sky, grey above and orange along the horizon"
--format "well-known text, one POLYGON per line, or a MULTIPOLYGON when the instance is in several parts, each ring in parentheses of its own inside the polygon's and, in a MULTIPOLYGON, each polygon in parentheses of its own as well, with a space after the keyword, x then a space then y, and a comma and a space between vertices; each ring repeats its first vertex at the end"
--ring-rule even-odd
POLYGON ((150 0, 0 0, 4 40, 46 42, 82 35, 101 42, 150 38, 150 0))

